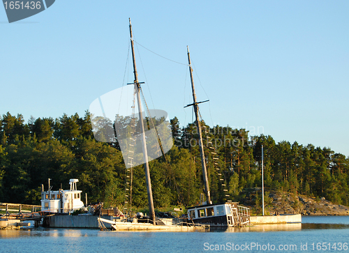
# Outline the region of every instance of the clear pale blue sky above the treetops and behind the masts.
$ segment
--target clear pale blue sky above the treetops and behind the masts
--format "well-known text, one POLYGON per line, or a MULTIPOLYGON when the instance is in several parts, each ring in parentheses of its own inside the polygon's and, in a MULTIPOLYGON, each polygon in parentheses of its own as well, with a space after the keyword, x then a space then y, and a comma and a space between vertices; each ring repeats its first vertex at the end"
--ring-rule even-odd
POLYGON ((152 109, 192 121, 188 45, 206 123, 348 156, 348 13, 341 0, 57 0, 8 24, 0 7, 0 114, 83 116, 133 82, 131 17, 152 109))

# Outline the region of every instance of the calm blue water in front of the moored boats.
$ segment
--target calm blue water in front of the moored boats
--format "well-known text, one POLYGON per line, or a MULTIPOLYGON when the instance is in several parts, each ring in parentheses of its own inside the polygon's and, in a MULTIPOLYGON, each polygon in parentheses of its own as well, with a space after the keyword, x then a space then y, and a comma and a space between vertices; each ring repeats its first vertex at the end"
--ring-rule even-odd
POLYGON ((206 232, 0 231, 0 252, 349 252, 348 244, 347 216, 206 232))

